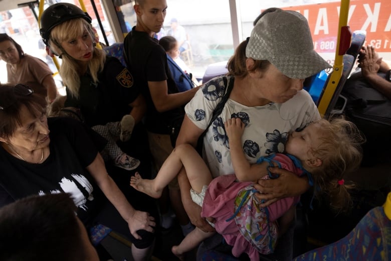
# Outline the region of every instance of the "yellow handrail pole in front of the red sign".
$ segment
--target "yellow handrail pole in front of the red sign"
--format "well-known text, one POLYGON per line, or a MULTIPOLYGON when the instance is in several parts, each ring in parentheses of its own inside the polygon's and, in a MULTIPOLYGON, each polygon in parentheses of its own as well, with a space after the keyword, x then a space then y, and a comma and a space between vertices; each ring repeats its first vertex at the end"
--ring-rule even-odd
POLYGON ((345 33, 346 32, 345 30, 348 30, 347 18, 349 13, 349 2, 350 0, 341 0, 341 7, 339 11, 339 21, 338 21, 337 47, 335 49, 335 60, 333 65, 333 71, 331 72, 327 86, 324 89, 323 95, 318 104, 318 110, 321 116, 324 116, 324 114, 326 113, 327 107, 330 104, 335 89, 337 88, 339 79, 342 76, 343 55, 345 54, 346 50, 340 50, 341 49, 340 44, 342 39, 341 34, 345 33))

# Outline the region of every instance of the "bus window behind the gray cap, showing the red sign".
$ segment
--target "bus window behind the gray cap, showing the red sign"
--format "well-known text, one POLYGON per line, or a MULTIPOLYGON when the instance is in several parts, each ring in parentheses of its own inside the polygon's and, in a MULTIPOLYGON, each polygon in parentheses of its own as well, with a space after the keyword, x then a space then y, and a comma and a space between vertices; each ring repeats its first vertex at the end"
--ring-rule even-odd
MULTIPOLYGON (((338 34, 340 0, 238 1, 240 3, 243 38, 250 35, 252 22, 263 10, 277 7, 301 13, 308 20, 315 50, 334 64, 338 34)), ((391 61, 391 18, 388 0, 351 0, 348 25, 352 32, 366 31, 366 43, 373 45, 383 59, 391 61)))

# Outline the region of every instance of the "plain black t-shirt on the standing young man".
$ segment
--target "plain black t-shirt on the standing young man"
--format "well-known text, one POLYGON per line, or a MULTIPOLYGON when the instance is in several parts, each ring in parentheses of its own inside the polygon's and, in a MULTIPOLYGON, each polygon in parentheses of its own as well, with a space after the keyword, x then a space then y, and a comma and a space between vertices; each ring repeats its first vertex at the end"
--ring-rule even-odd
POLYGON ((145 32, 138 32, 133 27, 124 40, 125 60, 132 71, 141 93, 147 102, 145 125, 148 131, 158 134, 169 134, 168 124, 175 115, 184 114, 183 108, 160 113, 153 104, 148 88, 148 81, 167 80, 168 94, 178 93, 167 64, 166 53, 158 41, 145 32))

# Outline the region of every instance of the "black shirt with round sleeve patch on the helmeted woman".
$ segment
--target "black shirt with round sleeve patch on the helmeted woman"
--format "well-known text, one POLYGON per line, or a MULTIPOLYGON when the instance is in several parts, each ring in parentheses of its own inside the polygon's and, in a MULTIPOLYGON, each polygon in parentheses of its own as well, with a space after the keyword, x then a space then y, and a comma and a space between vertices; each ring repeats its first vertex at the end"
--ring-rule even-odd
POLYGON ((119 121, 131 110, 129 103, 140 94, 133 76, 121 62, 107 56, 98 84, 86 73, 80 77, 79 98, 72 97, 67 89, 65 106, 78 107, 89 126, 119 121))

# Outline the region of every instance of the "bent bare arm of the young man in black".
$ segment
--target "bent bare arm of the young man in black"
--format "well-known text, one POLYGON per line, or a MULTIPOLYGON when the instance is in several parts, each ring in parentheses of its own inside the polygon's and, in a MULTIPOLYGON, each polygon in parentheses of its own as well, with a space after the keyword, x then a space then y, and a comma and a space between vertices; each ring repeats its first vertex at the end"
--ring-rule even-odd
POLYGON ((167 81, 148 81, 149 92, 151 93, 153 104, 158 112, 180 107, 189 102, 197 92, 199 87, 194 87, 188 91, 168 94, 167 81))

